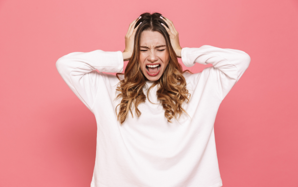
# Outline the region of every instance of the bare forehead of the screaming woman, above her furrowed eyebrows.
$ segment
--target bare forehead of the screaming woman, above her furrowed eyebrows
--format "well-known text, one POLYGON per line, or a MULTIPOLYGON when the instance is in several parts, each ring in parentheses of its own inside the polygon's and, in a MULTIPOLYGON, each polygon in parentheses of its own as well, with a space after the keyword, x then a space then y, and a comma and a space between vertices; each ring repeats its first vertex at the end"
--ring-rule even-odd
POLYGON ((155 47, 166 45, 164 36, 157 31, 143 31, 140 39, 140 46, 155 47))

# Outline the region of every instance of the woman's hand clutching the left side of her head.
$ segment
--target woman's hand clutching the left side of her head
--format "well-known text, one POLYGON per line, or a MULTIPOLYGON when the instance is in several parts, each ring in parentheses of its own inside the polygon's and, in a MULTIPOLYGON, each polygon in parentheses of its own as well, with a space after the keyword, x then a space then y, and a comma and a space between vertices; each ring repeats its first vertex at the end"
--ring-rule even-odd
POLYGON ((141 16, 129 24, 128 31, 125 35, 125 50, 122 52, 123 61, 128 61, 131 58, 134 50, 134 36, 136 34, 136 30, 142 22, 136 28, 134 28, 134 26, 140 18, 141 16))

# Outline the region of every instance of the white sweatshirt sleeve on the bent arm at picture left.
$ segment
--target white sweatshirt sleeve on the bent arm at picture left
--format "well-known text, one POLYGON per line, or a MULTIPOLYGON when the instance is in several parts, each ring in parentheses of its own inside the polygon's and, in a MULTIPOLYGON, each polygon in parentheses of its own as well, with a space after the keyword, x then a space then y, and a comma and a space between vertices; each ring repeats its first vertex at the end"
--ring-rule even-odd
POLYGON ((105 86, 101 72, 121 73, 123 56, 121 51, 74 52, 59 58, 56 67, 69 88, 91 110, 97 92, 105 86))

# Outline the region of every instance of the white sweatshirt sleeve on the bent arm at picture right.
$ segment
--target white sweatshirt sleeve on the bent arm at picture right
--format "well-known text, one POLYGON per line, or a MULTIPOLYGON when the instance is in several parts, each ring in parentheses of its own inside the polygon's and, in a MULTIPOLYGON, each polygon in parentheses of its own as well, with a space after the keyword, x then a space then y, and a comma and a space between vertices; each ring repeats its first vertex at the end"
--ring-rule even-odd
POLYGON ((222 49, 210 45, 199 48, 184 47, 181 50, 181 59, 185 66, 191 67, 195 63, 212 64, 202 73, 212 79, 221 100, 237 83, 250 63, 250 56, 240 50, 222 49))

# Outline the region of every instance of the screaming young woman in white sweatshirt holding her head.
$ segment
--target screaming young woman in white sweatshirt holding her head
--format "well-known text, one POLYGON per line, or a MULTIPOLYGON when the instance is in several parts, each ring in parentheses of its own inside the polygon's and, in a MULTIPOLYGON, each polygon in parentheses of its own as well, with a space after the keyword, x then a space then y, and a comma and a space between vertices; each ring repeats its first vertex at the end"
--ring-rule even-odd
POLYGON ((159 13, 129 25, 123 52, 59 58, 58 72, 97 121, 91 187, 222 186, 214 121, 249 63, 240 50, 181 48, 173 22, 159 13), (177 57, 187 67, 213 66, 191 74, 177 57))

